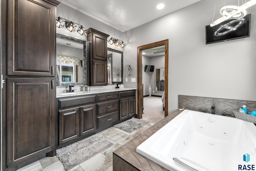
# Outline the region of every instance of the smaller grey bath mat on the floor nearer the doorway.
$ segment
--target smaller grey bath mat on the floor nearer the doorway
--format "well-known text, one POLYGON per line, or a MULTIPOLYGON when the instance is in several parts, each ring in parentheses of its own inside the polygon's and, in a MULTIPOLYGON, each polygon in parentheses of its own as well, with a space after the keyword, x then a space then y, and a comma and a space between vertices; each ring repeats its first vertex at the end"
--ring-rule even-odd
POLYGON ((129 119, 122 123, 118 123, 114 125, 114 127, 121 129, 123 131, 126 131, 128 133, 132 133, 133 131, 136 131, 137 129, 139 129, 140 127, 143 127, 146 124, 148 124, 147 121, 143 121, 141 119, 136 119, 132 117, 132 119, 129 119))

